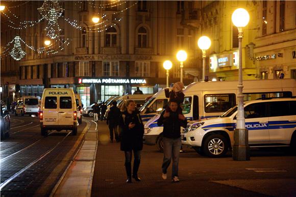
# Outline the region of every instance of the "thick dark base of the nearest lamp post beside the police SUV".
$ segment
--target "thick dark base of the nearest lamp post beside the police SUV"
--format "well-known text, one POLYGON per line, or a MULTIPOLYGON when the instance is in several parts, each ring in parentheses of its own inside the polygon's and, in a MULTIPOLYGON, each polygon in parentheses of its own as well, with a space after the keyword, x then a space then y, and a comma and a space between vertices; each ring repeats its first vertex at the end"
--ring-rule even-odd
POLYGON ((234 129, 234 145, 232 147, 233 160, 250 160, 250 147, 248 136, 248 129, 234 129))

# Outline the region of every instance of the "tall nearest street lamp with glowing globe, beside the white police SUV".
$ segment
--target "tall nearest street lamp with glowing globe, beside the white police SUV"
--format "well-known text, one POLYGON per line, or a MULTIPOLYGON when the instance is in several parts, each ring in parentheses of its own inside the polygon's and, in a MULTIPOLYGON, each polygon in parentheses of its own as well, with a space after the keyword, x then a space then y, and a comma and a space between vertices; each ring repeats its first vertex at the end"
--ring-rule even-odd
POLYGON ((237 115, 236 129, 234 130, 234 146, 232 150, 233 160, 250 160, 249 134, 244 125, 243 94, 242 94, 242 58, 241 40, 243 37, 242 27, 249 23, 250 16, 248 11, 242 8, 236 9, 232 14, 232 22, 238 29, 238 94, 237 94, 237 115))

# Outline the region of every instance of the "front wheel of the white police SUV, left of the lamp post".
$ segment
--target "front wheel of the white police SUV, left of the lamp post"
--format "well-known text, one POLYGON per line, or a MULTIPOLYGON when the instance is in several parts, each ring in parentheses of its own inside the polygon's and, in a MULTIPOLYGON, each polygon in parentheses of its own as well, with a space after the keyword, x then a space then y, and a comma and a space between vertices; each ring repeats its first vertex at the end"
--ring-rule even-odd
POLYGON ((210 135, 205 139, 203 152, 209 157, 223 157, 228 150, 227 139, 220 134, 210 135))

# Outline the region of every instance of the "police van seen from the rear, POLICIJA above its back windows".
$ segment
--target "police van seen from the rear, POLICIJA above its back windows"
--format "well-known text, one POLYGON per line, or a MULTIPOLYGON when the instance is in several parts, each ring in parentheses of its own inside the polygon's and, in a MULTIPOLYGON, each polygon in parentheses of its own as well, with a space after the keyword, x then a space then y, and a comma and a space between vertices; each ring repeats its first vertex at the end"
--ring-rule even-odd
POLYGON ((72 89, 44 89, 40 107, 41 135, 47 130, 72 130, 77 134, 77 105, 72 89))

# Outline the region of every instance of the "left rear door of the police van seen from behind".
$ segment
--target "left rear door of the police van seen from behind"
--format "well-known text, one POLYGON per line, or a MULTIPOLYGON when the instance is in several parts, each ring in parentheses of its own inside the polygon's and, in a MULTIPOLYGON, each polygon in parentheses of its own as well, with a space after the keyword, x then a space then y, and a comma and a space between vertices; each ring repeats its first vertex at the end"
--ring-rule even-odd
POLYGON ((43 125, 58 125, 58 97, 45 96, 43 112, 43 125))

